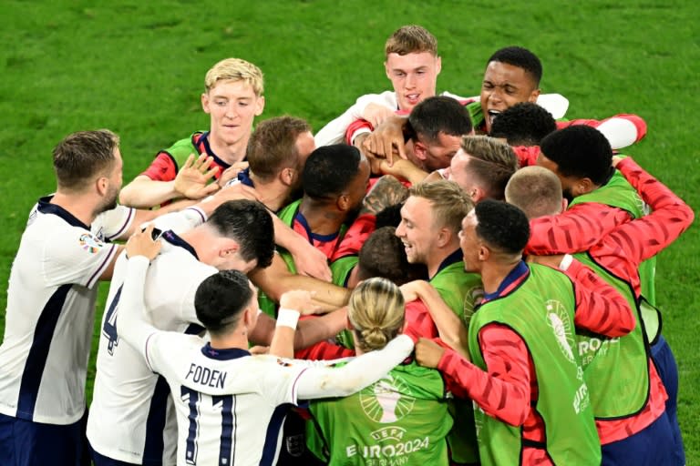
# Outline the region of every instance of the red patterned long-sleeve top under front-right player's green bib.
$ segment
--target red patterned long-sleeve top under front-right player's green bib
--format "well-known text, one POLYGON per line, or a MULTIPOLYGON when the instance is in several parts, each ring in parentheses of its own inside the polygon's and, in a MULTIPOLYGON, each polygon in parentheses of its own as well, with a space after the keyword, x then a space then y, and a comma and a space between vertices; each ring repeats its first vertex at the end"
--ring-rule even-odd
MULTIPOLYGON (((501 285, 497 296, 508 295, 529 274, 529 268, 514 269, 504 280, 505 286, 501 285)), ((633 329, 633 310, 590 268, 574 260, 566 274, 574 282, 574 323, 577 327, 609 337, 619 337, 633 329)), ((485 300, 497 296, 491 295, 485 300)), ((543 420, 532 409, 538 400, 539 388, 534 361, 525 342, 510 327, 491 323, 479 330, 479 348, 487 370, 464 360, 452 349, 446 349, 438 370, 462 386, 469 398, 489 416, 513 426, 522 426, 523 437, 527 440, 546 441, 543 420)), ((524 447, 522 464, 553 463, 546 451, 524 447)))

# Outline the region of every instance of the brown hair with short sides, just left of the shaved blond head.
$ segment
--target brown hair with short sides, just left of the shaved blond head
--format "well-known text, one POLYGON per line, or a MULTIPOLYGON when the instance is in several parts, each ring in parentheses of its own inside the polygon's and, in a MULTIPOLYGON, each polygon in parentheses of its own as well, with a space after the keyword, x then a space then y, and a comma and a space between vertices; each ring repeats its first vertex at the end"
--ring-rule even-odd
POLYGON ((518 156, 512 147, 495 137, 466 136, 461 148, 470 157, 468 170, 479 180, 487 198, 502 200, 508 180, 518 169, 518 156))

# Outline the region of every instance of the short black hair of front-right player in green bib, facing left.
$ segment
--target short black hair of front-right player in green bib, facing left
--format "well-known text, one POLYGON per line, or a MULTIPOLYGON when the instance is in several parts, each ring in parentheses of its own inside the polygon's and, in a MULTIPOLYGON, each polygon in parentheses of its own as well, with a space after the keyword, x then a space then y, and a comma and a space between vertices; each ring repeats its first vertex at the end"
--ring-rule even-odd
POLYGON ((530 239, 530 223, 525 213, 511 204, 485 199, 474 208, 477 236, 490 248, 506 254, 520 254, 530 239))

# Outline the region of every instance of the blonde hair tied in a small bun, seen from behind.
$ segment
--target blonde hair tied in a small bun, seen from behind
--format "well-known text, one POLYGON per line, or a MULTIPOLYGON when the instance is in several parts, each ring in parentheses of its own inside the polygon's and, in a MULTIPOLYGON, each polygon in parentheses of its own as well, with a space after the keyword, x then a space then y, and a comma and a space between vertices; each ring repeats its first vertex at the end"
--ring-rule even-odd
POLYGON ((387 279, 367 279, 350 295, 347 317, 357 346, 363 351, 382 349, 404 326, 406 303, 401 290, 387 279))

